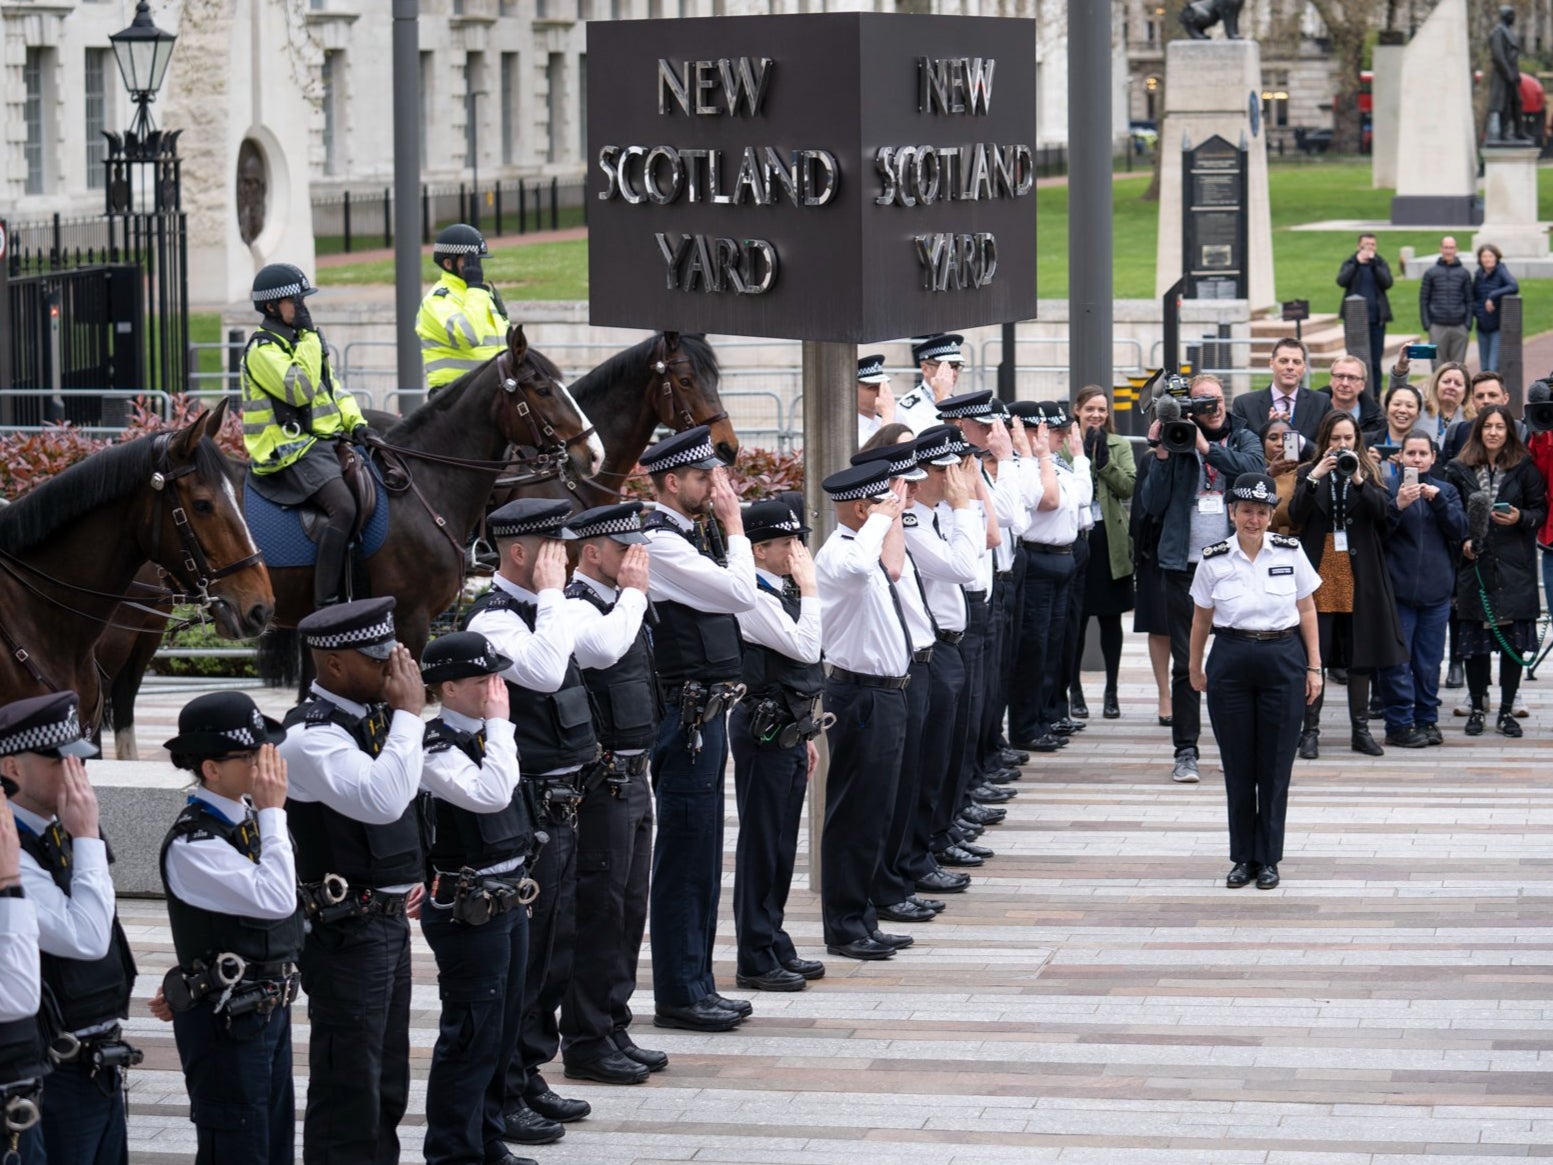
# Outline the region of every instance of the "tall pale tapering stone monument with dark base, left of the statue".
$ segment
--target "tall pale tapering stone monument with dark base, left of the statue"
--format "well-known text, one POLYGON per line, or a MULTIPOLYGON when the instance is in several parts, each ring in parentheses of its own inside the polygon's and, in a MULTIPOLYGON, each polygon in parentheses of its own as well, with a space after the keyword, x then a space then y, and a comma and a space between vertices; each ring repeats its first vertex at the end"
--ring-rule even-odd
POLYGON ((1440 0, 1402 50, 1396 137, 1396 227, 1471 227, 1477 207, 1477 134, 1466 0, 1440 0))

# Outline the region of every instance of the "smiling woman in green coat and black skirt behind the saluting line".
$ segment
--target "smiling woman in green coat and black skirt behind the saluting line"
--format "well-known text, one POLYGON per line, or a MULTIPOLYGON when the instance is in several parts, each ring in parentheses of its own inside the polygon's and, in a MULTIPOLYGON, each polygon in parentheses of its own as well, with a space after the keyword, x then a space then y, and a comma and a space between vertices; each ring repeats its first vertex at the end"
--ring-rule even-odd
MULTIPOLYGON (((1090 474, 1095 482, 1089 531, 1089 572, 1084 582, 1084 615, 1078 631, 1078 657, 1084 659, 1089 620, 1100 623, 1100 654, 1106 660, 1106 693, 1101 715, 1121 716, 1117 702, 1117 673, 1121 668, 1121 617, 1132 610, 1132 539, 1123 502, 1132 497, 1138 471, 1132 463, 1132 443, 1110 421, 1110 398, 1100 385, 1086 385, 1073 398, 1073 413, 1084 433, 1090 474)), ((1072 704, 1084 705, 1078 674, 1073 677, 1072 704)))

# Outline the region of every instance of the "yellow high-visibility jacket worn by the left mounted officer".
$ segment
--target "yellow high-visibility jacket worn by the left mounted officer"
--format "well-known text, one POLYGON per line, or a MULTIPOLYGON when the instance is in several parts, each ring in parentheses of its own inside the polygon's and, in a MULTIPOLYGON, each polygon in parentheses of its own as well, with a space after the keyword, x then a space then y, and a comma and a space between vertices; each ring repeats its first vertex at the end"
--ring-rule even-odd
POLYGON ((294 340, 289 331, 264 325, 242 353, 242 444, 255 474, 284 469, 318 438, 367 424, 356 398, 325 367, 318 332, 294 340))

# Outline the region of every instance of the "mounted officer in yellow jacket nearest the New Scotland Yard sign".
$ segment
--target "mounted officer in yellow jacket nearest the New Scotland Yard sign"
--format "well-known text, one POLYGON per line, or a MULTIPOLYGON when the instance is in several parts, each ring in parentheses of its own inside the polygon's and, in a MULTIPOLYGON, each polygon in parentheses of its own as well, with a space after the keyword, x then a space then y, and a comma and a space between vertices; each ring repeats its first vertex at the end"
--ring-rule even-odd
POLYGON ((506 348, 506 304, 481 264, 489 256, 485 235, 463 222, 444 227, 432 245, 443 276, 421 300, 415 334, 433 393, 506 348))

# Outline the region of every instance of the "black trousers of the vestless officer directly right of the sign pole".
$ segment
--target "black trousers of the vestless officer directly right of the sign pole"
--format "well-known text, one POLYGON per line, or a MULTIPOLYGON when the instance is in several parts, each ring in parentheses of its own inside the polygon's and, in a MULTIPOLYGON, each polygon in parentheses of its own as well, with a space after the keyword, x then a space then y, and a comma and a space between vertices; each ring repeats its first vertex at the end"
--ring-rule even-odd
POLYGON ((825 941, 845 946, 868 938, 868 892, 884 854, 905 749, 905 693, 826 677, 825 710, 836 713, 826 733, 831 767, 825 780, 825 831, 820 836, 820 907, 825 941))

